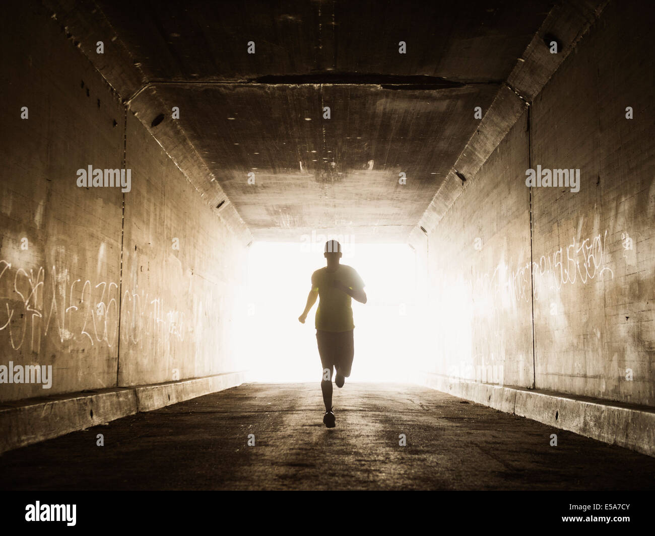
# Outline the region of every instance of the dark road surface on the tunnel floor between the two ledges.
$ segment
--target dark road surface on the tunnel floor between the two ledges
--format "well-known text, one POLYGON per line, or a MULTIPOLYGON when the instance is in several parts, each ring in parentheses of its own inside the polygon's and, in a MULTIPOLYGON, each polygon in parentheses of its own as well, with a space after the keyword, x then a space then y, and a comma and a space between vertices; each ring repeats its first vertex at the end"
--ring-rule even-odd
POLYGON ((5 490, 655 489, 655 458, 440 391, 346 382, 334 393, 333 429, 322 423, 318 382, 244 384, 6 452, 0 484, 5 490), (99 433, 104 446, 96 446, 99 433))

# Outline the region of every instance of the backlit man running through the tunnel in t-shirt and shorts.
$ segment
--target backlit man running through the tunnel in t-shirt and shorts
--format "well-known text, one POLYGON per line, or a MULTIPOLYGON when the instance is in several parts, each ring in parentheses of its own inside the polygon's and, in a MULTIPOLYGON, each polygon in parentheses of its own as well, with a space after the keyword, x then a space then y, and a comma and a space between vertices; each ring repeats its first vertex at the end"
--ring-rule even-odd
POLYGON ((312 289, 307 296, 305 311, 298 320, 304 324, 307 313, 316 303, 316 298, 320 298, 316 309, 316 342, 323 365, 321 391, 326 406, 323 422, 328 428, 333 428, 335 418, 332 410, 332 368, 337 372, 335 384, 337 387, 343 387, 345 378, 350 376, 354 356, 355 325, 352 323, 350 298, 365 304, 366 293, 360 274, 350 266, 339 264, 339 242, 328 240, 323 255, 327 259, 327 266, 312 274, 312 289))

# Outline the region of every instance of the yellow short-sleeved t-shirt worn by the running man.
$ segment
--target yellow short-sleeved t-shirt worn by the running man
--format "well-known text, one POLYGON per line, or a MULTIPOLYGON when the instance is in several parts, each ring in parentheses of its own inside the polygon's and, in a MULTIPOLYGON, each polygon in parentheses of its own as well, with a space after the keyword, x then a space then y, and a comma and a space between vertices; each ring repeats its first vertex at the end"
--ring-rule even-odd
POLYGON ((352 322, 352 298, 344 291, 332 286, 339 280, 350 289, 363 289, 364 281, 354 268, 339 264, 335 272, 320 268, 312 274, 312 289, 318 291, 318 308, 316 309, 316 329, 322 331, 350 331, 352 322))

